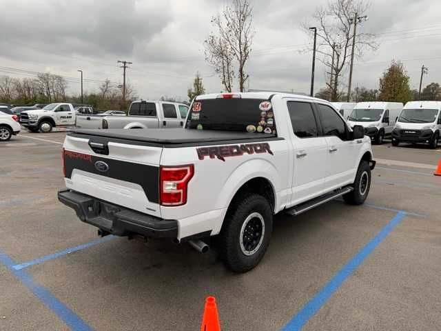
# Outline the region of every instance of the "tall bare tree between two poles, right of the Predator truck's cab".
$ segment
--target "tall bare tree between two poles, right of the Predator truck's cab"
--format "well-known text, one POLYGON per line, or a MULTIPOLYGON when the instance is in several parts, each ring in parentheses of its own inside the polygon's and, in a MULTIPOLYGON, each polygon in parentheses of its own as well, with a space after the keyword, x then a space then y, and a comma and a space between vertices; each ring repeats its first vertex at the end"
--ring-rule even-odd
MULTIPOLYGON (((370 4, 365 0, 333 0, 327 6, 319 7, 313 19, 302 24, 302 29, 311 36, 309 27, 317 28, 318 60, 327 67, 327 88, 331 92, 331 101, 340 99, 340 78, 351 57, 353 39, 353 19, 358 13, 362 17, 370 4)), ((376 50, 375 36, 370 33, 356 33, 356 56, 362 57, 365 49, 376 50)))

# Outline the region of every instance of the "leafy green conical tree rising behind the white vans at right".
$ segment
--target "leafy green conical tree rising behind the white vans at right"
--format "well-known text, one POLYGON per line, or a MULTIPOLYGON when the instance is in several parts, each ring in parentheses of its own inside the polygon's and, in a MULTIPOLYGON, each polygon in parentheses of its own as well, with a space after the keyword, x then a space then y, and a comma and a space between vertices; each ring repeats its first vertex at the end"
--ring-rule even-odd
POLYGON ((413 98, 409 76, 402 63, 395 60, 380 78, 380 101, 407 103, 413 98))

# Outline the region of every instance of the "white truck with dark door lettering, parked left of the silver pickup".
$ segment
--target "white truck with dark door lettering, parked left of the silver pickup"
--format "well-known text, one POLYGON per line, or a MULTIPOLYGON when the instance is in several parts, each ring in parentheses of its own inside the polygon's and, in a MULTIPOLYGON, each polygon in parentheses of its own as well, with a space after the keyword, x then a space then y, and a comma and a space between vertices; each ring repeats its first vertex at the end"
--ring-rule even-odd
POLYGON ((30 132, 51 132, 54 126, 73 126, 75 117, 72 103, 50 103, 42 109, 21 112, 20 123, 30 132))

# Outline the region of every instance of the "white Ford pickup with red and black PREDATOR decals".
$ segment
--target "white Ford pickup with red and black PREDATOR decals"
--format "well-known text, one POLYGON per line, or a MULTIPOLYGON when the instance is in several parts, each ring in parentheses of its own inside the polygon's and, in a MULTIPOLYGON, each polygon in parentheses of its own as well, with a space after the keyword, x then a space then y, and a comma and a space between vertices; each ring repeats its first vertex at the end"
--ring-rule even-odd
POLYGON ((206 94, 186 130, 74 130, 63 145, 59 201, 100 235, 161 237, 246 272, 263 258, 273 215, 336 197, 361 204, 371 139, 331 103, 296 94, 206 94))

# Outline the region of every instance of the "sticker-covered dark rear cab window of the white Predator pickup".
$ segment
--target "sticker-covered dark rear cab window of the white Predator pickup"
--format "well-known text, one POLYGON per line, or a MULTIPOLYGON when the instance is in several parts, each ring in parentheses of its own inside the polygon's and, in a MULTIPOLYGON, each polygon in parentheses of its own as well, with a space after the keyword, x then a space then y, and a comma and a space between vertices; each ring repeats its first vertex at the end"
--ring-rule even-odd
POLYGON ((195 100, 185 128, 276 134, 274 112, 267 99, 195 100))

